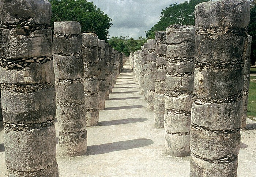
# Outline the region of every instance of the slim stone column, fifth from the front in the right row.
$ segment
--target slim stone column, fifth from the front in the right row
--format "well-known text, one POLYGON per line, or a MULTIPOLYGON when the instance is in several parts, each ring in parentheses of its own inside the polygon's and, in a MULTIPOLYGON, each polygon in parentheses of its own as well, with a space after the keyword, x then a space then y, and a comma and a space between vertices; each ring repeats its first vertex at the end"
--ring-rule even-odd
POLYGON ((144 100, 147 100, 147 87, 148 87, 148 71, 147 71, 147 53, 148 53, 148 44, 144 43, 144 50, 143 50, 143 64, 144 66, 142 67, 143 70, 143 96, 144 100))

